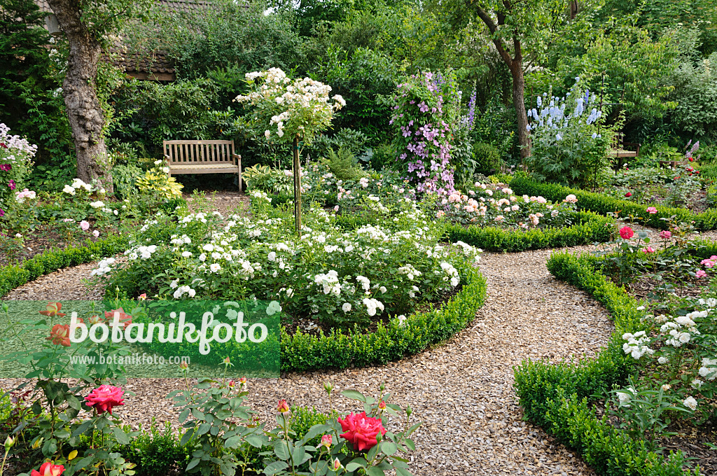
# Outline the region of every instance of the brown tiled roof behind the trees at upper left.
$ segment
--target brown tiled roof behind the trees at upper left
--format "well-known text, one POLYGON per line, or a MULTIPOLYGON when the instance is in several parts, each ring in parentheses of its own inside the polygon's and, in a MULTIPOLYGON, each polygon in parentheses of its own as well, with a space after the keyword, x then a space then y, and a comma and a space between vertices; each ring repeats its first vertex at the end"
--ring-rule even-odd
MULTIPOLYGON (((48 14, 45 23, 47 29, 52 33, 58 31, 57 19, 47 0, 35 0, 41 11, 48 14), (54 24, 53 24, 54 23, 54 24)), ((212 3, 206 0, 157 0, 157 4, 167 12, 189 12, 198 9, 207 9, 212 3)), ((138 80, 174 81, 174 61, 167 56, 166 52, 128 52, 127 47, 121 39, 110 47, 109 54, 105 60, 120 67, 128 76, 136 77, 138 80)))

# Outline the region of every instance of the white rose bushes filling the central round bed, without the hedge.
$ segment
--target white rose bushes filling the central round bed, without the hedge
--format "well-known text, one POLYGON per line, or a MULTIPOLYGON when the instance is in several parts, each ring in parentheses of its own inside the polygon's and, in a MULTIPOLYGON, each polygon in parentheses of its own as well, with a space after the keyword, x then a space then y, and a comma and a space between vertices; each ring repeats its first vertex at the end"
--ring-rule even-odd
POLYGON ((352 325, 442 300, 480 256, 465 243, 441 244, 442 227, 412 201, 383 222, 348 231, 335 214, 311 209, 299 238, 288 212, 261 206, 269 200, 254 192, 252 219, 199 212, 175 223, 158 216, 138 231, 127 262, 104 260, 95 279, 110 293, 119 287, 161 298, 277 300, 293 318, 352 325))

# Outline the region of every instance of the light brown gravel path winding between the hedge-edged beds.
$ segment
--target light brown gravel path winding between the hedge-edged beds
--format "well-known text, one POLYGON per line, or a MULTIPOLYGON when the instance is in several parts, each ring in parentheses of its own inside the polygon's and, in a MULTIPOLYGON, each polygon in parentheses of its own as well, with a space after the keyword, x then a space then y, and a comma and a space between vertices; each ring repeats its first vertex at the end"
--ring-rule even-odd
MULTIPOLYGON (((267 418, 280 398, 326 409, 326 381, 338 391, 368 394, 385 381, 394 402, 410 404, 414 418, 424 422, 411 464, 417 476, 594 474, 574 453, 521 420, 513 391, 512 367, 523 359, 592 356, 612 332, 602 307, 549 275, 545 262, 550 253, 485 254, 481 270, 488 279, 487 303, 472 327, 445 346, 387 366, 250 381, 252 405, 267 418)), ((77 285, 89 270, 83 265, 53 273, 7 298, 96 298, 96 291, 77 285)), ((0 386, 15 383, 4 380, 0 386)), ((153 417, 176 424, 177 412, 164 396, 183 385, 169 379, 130 380, 127 389, 136 396, 125 400, 118 416, 133 426, 146 427, 153 417)), ((334 404, 340 411, 356 409, 342 397, 334 404)))

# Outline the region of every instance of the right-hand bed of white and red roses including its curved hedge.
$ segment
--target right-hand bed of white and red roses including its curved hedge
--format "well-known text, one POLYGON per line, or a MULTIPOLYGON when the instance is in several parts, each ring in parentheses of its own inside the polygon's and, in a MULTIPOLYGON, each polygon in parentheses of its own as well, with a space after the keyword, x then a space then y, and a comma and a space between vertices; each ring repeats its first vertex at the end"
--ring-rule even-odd
MULTIPOLYGON (((710 306, 717 307, 717 300, 713 291, 705 294, 704 285, 717 249, 663 234, 668 246, 660 252, 643 241, 645 234, 635 236, 625 227, 616 251, 602 257, 554 254, 551 273, 603 303, 615 331, 597 358, 557 365, 528 361, 516 368, 526 415, 579 449, 600 474, 684 474, 685 454, 663 457, 660 443, 673 436, 671 429, 693 434, 693 425, 704 424, 713 412, 717 359, 710 306), (663 287, 655 287, 647 302, 619 286, 643 279, 648 270, 660 275, 655 282, 663 287), (703 285, 702 292, 676 284, 685 280, 703 285), (598 418, 589 404, 601 397, 605 410, 598 418)), ((699 454, 694 445, 685 449, 690 457, 699 454)))

